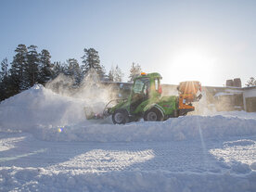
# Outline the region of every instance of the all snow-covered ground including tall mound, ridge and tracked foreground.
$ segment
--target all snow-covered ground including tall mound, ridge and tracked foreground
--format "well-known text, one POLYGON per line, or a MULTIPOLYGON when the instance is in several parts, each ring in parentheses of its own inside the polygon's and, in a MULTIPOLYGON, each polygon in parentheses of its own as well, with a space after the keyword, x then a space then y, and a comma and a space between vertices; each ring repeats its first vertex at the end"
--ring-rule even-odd
POLYGON ((0 104, 0 191, 256 191, 256 113, 84 120, 41 85, 0 104))

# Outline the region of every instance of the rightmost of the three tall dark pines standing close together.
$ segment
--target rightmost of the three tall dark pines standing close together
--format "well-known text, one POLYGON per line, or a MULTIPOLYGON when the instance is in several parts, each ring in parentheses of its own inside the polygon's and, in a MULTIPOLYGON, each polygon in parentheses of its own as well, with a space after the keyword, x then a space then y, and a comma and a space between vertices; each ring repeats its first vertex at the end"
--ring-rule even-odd
POLYGON ((51 55, 48 50, 43 49, 39 54, 39 80, 38 83, 45 84, 54 76, 54 65, 51 63, 51 55))

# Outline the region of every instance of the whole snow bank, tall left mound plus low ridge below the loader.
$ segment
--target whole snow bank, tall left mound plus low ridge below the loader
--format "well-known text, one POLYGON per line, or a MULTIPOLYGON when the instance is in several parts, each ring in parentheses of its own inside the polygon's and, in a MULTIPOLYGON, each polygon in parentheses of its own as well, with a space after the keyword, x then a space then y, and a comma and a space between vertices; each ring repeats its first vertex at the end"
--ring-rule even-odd
POLYGON ((186 116, 166 122, 126 125, 86 121, 82 99, 60 96, 42 85, 0 104, 0 131, 27 131, 49 141, 172 141, 256 134, 256 113, 236 111, 211 116, 186 116))

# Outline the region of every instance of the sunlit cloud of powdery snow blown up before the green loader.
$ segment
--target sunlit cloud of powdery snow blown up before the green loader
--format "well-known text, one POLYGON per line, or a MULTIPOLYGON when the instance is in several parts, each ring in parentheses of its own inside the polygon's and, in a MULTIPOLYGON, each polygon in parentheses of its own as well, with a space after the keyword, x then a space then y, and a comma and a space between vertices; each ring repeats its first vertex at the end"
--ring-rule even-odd
POLYGON ((118 90, 114 85, 101 83, 96 70, 89 70, 79 86, 74 85, 74 80, 60 74, 53 81, 46 83, 45 88, 51 89, 62 96, 82 99, 84 108, 101 113, 109 100, 116 98, 118 90))

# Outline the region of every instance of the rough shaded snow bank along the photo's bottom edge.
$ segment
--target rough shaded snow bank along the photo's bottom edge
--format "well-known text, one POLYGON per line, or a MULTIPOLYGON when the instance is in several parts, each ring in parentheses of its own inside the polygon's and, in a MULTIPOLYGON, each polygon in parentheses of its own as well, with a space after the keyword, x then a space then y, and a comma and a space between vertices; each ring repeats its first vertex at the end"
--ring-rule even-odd
POLYGON ((52 172, 44 168, 0 168, 0 191, 255 191, 256 172, 52 172), (199 182, 198 182, 199 181, 199 182))

